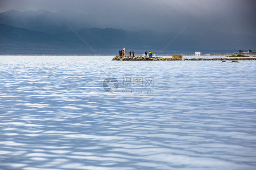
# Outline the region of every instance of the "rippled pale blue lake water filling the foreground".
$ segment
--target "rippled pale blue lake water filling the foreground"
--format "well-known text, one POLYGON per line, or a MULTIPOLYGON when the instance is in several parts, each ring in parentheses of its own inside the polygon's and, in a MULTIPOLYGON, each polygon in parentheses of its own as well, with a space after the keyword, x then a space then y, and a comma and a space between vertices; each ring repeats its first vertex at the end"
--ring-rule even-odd
POLYGON ((256 168, 256 61, 112 58, 0 56, 0 169, 256 168))

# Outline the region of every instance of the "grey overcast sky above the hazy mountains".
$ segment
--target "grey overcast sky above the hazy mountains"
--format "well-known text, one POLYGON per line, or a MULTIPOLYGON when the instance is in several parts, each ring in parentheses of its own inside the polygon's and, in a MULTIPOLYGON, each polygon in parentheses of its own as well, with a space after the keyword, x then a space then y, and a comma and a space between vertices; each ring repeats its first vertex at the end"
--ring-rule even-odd
POLYGON ((256 35, 256 0, 0 0, 7 10, 70 10, 100 28, 179 31, 185 26, 256 35))

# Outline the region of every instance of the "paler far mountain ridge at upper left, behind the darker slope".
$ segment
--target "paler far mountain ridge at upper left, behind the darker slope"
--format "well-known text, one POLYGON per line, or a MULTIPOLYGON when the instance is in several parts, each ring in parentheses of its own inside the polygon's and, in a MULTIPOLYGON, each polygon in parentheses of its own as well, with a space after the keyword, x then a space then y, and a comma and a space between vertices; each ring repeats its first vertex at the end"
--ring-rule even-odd
POLYGON ((0 13, 0 24, 44 32, 47 34, 57 34, 69 31, 70 28, 68 25, 72 25, 76 30, 90 27, 90 21, 84 20, 84 18, 87 18, 84 15, 85 14, 67 10, 58 12, 50 12, 47 10, 28 10, 24 12, 9 10, 0 13))

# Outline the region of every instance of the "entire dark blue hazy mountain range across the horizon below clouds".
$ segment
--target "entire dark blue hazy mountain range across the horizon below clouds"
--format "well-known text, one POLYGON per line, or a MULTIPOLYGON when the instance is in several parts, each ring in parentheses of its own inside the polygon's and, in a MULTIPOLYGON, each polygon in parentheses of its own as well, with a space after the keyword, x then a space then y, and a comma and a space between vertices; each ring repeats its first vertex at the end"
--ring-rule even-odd
POLYGON ((60 54, 87 53, 90 49, 81 38, 96 51, 127 48, 161 52, 170 42, 162 52, 256 49, 256 37, 252 35, 225 34, 188 26, 174 39, 178 33, 89 28, 91 21, 81 15, 46 10, 10 10, 0 13, 0 54, 13 54, 14 49, 20 49, 15 50, 15 53, 20 54, 35 53, 35 49, 38 54, 55 54, 60 51, 60 54), (28 48, 29 46, 33 46, 33 49, 28 48), (47 50, 49 47, 50 51, 47 50))

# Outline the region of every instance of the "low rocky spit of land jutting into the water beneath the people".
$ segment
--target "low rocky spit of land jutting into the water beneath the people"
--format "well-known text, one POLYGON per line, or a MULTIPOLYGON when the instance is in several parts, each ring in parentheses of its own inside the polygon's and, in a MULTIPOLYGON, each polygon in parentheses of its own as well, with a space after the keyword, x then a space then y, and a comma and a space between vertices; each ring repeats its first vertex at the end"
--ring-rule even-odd
POLYGON ((256 60, 256 58, 212 58, 212 59, 203 59, 203 58, 193 58, 193 59, 174 59, 174 58, 163 58, 163 57, 131 57, 131 56, 115 56, 112 60, 117 61, 212 61, 212 60, 220 60, 220 61, 235 61, 235 60, 256 60))

